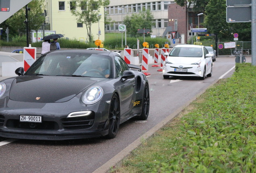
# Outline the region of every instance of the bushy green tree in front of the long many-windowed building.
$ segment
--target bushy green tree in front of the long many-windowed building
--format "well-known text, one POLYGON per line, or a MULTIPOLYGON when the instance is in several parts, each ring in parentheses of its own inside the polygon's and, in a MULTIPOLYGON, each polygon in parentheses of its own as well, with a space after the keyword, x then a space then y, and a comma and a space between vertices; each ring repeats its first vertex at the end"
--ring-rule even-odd
POLYGON ((150 10, 143 11, 140 13, 133 13, 131 16, 125 16, 124 24, 126 25, 127 33, 135 35, 137 34, 138 29, 150 29, 152 32, 153 25, 153 14, 151 14, 150 10))

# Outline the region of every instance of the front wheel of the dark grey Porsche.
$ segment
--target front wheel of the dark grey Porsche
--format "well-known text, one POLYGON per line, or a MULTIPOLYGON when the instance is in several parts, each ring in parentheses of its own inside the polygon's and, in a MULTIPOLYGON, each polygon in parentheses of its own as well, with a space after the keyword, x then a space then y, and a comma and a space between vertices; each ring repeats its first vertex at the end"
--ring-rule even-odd
POLYGON ((109 107, 109 129, 107 138, 116 137, 120 125, 120 102, 118 96, 114 94, 109 107))

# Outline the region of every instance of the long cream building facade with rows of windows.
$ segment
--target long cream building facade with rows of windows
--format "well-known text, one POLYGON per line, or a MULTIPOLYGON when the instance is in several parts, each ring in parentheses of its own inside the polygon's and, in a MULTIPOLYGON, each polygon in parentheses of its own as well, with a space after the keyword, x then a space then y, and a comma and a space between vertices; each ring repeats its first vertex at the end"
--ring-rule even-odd
POLYGON ((163 36, 168 26, 168 5, 171 3, 174 3, 174 1, 110 0, 109 6, 105 7, 105 13, 111 18, 112 22, 105 25, 105 32, 119 32, 118 25, 122 24, 126 15, 149 9, 154 16, 151 35, 163 36))

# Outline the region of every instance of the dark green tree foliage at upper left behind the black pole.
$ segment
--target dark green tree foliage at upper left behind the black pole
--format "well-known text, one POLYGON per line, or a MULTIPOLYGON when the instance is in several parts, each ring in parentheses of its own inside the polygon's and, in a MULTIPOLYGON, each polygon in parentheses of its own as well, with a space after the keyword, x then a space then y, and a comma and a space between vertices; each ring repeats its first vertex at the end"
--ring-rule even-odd
MULTIPOLYGON (((30 8, 28 12, 29 30, 38 30, 43 24, 45 17, 42 15, 42 5, 43 0, 33 0, 28 4, 28 8, 30 8)), ((26 8, 23 7, 6 20, 5 25, 9 28, 10 36, 26 34, 25 12, 26 8)))

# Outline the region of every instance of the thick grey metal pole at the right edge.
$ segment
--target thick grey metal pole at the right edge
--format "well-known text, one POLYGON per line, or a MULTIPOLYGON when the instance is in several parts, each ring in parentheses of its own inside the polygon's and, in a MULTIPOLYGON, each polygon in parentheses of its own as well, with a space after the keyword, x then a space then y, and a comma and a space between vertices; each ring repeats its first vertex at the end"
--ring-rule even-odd
POLYGON ((252 65, 256 65, 256 0, 252 0, 252 65))

